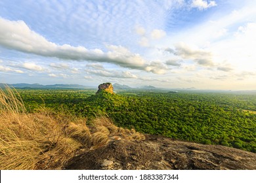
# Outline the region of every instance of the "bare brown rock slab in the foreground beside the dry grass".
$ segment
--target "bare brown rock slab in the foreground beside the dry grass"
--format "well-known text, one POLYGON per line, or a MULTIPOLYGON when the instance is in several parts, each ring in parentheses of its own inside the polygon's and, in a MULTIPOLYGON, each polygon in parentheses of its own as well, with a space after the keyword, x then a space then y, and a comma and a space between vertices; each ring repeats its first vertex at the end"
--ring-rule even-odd
POLYGON ((148 135, 144 141, 121 139, 89 150, 65 169, 256 169, 256 154, 148 135))

